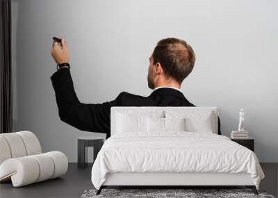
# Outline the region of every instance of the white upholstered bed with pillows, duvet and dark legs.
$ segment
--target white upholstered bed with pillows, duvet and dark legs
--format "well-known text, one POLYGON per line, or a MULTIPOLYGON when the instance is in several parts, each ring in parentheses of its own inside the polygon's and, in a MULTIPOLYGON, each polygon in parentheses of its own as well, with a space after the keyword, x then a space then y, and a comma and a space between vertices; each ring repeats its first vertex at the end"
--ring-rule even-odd
POLYGON ((115 106, 92 166, 97 189, 120 185, 244 185, 264 178, 250 149, 218 135, 216 106, 115 106))

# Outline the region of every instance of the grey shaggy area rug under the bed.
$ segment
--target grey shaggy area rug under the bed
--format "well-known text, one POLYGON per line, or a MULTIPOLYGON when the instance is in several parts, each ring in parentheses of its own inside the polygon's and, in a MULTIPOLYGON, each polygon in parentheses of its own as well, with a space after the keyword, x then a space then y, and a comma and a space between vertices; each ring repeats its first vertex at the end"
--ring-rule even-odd
POLYGON ((258 190, 259 195, 254 195, 251 189, 111 189, 104 188, 99 195, 95 195, 97 190, 85 190, 81 198, 92 197, 267 197, 275 198, 267 195, 265 190, 258 190))

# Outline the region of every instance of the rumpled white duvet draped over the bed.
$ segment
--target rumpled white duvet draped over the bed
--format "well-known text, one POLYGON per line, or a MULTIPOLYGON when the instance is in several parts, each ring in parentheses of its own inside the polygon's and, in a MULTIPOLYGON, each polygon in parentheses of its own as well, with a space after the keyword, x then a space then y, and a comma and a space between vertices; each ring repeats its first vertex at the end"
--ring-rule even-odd
POLYGON ((264 178, 250 149, 223 135, 184 131, 112 135, 92 166, 95 188, 106 181, 108 172, 249 173, 257 189, 264 178))

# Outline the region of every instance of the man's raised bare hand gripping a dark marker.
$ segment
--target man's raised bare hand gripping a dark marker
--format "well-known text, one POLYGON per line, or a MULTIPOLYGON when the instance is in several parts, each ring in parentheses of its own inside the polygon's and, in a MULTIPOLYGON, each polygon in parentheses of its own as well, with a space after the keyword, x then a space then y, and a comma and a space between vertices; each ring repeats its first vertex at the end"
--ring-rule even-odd
POLYGON ((57 64, 69 63, 69 52, 67 51, 67 42, 65 38, 61 38, 62 42, 58 43, 54 40, 51 48, 51 55, 57 64))

